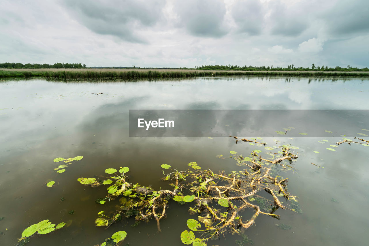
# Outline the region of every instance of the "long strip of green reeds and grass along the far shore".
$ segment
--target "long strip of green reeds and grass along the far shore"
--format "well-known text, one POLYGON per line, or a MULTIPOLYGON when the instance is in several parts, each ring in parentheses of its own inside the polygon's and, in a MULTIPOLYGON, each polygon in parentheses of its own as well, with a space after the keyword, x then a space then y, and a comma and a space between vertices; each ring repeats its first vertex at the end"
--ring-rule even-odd
POLYGON ((369 72, 211 71, 191 69, 0 69, 0 78, 190 78, 201 76, 369 76, 369 72))

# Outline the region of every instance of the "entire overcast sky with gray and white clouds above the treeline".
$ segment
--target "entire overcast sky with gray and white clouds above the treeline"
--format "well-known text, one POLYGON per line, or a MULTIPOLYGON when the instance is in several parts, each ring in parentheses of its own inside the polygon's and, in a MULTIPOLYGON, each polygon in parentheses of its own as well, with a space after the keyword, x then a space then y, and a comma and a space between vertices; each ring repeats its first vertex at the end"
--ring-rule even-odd
POLYGON ((369 66, 368 0, 1 0, 0 63, 369 66))

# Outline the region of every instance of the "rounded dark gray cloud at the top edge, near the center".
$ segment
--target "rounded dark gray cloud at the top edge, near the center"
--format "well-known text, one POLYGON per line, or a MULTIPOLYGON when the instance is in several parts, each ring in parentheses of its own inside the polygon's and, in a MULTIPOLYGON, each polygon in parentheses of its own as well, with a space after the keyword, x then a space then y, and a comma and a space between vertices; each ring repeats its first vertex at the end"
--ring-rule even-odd
POLYGON ((179 25, 197 37, 222 37, 227 34, 223 26, 226 13, 222 0, 176 1, 175 12, 179 25))

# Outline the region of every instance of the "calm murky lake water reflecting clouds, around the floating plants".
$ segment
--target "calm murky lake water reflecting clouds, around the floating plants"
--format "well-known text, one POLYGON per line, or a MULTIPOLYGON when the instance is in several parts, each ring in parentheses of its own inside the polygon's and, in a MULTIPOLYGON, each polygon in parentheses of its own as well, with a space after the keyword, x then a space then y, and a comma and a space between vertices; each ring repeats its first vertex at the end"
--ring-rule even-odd
MULTIPOLYGON (((118 230, 128 233, 123 245, 184 245, 180 233, 192 218, 188 206, 170 203, 162 233, 154 221, 133 228, 132 218, 98 228, 97 213, 113 211, 116 203, 96 204, 105 188, 83 186, 77 178, 127 166, 130 182, 165 188, 167 183, 159 181, 161 164, 186 170, 187 163, 196 161, 214 171, 240 170, 231 158, 215 156, 227 157, 230 150, 246 156, 256 146, 236 145, 229 137, 129 137, 129 109, 369 109, 368 92, 369 81, 358 78, 0 82, 0 217, 5 217, 0 245, 16 245, 25 228, 44 219, 73 221, 48 235, 33 236, 27 245, 96 245, 118 230), (79 155, 84 158, 56 173, 54 158, 79 155), (50 179, 56 185, 47 188, 50 179)), ((369 133, 361 130, 369 129, 369 119, 357 122, 357 129, 369 133)), ((295 151, 297 172, 283 175, 289 177, 289 192, 299 197, 303 213, 278 209, 280 221, 260 215, 256 226, 246 230, 254 245, 366 245, 369 147, 342 144, 327 150, 342 139, 339 134, 324 137, 328 142, 323 144, 318 142, 322 137, 263 137, 268 146, 300 147, 295 151), (277 228, 281 223, 292 229, 277 228)), ((235 245, 235 239, 227 235, 208 245, 235 245)))

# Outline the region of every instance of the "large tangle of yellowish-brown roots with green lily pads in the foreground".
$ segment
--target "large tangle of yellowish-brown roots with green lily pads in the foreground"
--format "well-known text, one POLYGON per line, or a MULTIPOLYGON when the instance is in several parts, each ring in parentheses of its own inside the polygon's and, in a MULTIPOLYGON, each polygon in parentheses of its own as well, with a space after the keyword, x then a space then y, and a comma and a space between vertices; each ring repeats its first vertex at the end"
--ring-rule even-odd
POLYGON ((95 220, 96 226, 110 226, 122 216, 134 216, 137 221, 155 219, 158 231, 161 231, 160 220, 166 216, 169 201, 191 203, 189 212, 197 214, 197 220, 187 220, 190 230, 184 230, 180 239, 184 244, 203 246, 207 245, 208 239, 218 238, 227 232, 242 235, 241 229, 254 225, 260 214, 279 219, 280 216, 275 214, 278 208, 301 212, 297 197, 287 191, 288 178, 278 174, 272 176, 277 167, 282 170, 294 169, 291 164, 297 155, 290 153, 287 145, 280 146, 280 149, 279 153, 272 153, 269 158, 263 158, 261 150, 252 151, 248 157, 230 151, 231 158, 245 169, 229 174, 224 171, 214 173, 203 170, 196 162, 189 163, 189 168, 185 171, 162 164, 164 170, 170 170, 168 174, 163 171, 163 180, 169 182, 172 190, 154 190, 128 182, 128 177, 125 176, 129 171, 128 167, 121 167, 119 171, 107 168, 105 173, 112 175, 105 180, 79 178, 78 181, 91 186, 109 185, 106 197, 101 198, 99 203, 119 198, 120 210, 110 216, 100 211, 99 218, 95 220), (264 196, 269 194, 271 200, 263 197, 262 191, 266 192, 264 196), (290 205, 283 204, 278 197, 284 197, 290 205), (252 209, 254 215, 249 219, 243 218, 241 215, 245 209, 252 209))

